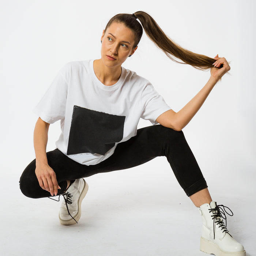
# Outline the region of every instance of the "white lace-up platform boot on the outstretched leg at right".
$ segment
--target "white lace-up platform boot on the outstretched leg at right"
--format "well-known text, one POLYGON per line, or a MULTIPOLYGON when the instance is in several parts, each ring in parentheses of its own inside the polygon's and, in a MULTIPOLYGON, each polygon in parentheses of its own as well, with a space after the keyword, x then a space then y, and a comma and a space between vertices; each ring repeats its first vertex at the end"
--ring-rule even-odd
MULTIPOLYGON (((216 256, 245 256, 244 246, 231 236, 226 225, 223 223, 223 219, 226 219, 225 207, 223 205, 217 206, 214 201, 210 205, 203 204, 197 207, 203 220, 200 251, 216 256)), ((230 212, 232 211, 230 210, 230 212)), ((233 212, 232 215, 228 212, 226 213, 233 216, 233 212)))

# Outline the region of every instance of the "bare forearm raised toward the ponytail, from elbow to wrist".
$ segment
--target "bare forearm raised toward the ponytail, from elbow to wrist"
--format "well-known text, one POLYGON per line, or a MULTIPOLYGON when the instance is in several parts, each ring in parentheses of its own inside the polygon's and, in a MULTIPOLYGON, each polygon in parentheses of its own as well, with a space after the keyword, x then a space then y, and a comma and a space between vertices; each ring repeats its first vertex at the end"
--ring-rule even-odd
POLYGON ((189 101, 180 111, 175 114, 176 127, 179 130, 183 129, 193 118, 193 116, 195 116, 216 83, 217 79, 211 76, 199 93, 197 93, 195 97, 191 99, 191 101, 189 101))

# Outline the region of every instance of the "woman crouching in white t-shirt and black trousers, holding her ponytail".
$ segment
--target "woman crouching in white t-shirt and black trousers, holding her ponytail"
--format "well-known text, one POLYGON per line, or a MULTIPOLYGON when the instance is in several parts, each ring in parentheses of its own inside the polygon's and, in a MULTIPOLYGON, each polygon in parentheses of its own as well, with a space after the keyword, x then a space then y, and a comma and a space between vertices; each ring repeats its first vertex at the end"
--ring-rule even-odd
POLYGON ((212 201, 181 131, 230 70, 226 59, 218 54, 212 59, 174 44, 143 11, 115 15, 103 30, 101 42, 101 59, 65 64, 34 108, 39 116, 34 130, 36 158, 20 177, 22 193, 32 198, 63 195, 60 223, 72 225, 81 216, 81 202, 88 190, 84 177, 127 169, 165 155, 202 216, 200 250, 245 255, 244 247, 226 229, 222 219, 226 219, 225 207, 212 201), (140 23, 170 59, 177 61, 172 58, 175 56, 195 68, 211 69, 203 89, 177 113, 148 80, 121 67, 138 48, 143 32, 140 23), (140 118, 153 125, 137 130, 140 118), (56 149, 46 153, 49 125, 57 120, 61 120, 61 135, 56 149))

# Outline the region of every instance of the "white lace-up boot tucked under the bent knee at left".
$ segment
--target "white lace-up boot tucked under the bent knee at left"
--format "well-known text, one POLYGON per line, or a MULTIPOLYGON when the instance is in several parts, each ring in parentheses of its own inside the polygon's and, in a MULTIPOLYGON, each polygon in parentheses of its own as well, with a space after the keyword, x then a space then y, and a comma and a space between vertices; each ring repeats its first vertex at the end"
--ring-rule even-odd
POLYGON ((62 225, 72 225, 78 223, 81 217, 81 203, 87 191, 88 184, 83 178, 75 180, 62 194, 63 202, 60 206, 59 219, 62 225))

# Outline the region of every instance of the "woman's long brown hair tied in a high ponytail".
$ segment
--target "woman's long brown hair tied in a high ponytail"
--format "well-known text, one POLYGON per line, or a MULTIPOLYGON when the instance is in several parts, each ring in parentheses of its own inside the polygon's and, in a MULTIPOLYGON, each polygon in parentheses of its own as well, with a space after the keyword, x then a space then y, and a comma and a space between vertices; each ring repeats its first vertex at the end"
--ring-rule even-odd
MULTIPOLYGON (((202 54, 193 53, 174 43, 172 39, 170 39, 162 31, 162 29, 158 26, 157 22, 155 22, 155 20, 149 14, 143 11, 138 11, 134 14, 136 15, 136 17, 133 14, 117 14, 113 16, 106 25, 105 31, 112 22, 123 23, 135 34, 135 45, 133 47, 136 47, 139 44, 144 29, 147 36, 171 60, 181 64, 189 64, 192 67, 200 70, 208 70, 213 67, 212 63, 216 61, 215 59, 202 54), (136 18, 139 19, 140 23, 143 26, 143 29, 136 18), (180 62, 173 57, 176 57, 183 62, 180 62)), ((221 67, 223 67, 223 65, 221 65, 221 67)))

